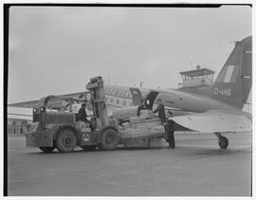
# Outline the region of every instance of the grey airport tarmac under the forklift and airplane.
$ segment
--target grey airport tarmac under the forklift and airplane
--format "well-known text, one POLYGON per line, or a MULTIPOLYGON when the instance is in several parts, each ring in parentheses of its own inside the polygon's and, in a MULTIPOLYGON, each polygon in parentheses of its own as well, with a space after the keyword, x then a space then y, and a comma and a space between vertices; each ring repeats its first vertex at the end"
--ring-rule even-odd
POLYGON ((251 133, 216 137, 175 133, 175 149, 164 140, 148 148, 44 154, 8 137, 9 196, 250 196, 251 133))

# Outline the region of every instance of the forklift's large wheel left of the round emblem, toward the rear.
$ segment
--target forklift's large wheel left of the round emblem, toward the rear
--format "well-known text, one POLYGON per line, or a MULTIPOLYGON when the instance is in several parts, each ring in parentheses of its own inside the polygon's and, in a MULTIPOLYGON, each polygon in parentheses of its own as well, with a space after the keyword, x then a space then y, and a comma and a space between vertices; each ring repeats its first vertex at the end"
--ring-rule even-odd
POLYGON ((77 145, 77 136, 70 129, 61 130, 56 138, 56 147, 59 152, 72 152, 77 145))

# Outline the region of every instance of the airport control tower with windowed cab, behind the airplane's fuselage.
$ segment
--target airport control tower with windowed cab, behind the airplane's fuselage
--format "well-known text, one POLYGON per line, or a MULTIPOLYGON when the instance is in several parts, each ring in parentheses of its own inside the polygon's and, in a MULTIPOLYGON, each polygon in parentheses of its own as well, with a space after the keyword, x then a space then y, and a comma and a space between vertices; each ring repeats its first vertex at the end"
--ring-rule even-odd
POLYGON ((213 82, 214 73, 208 68, 200 68, 200 65, 197 65, 196 69, 179 72, 182 78, 179 89, 209 87, 213 82))

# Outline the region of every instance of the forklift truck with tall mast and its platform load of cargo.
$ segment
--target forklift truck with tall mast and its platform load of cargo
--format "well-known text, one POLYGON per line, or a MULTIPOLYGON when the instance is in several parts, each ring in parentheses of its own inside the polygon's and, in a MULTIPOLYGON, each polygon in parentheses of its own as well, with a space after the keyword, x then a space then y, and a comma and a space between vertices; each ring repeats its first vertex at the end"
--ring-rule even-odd
POLYGON ((159 118, 130 118, 130 127, 120 129, 115 118, 107 116, 106 98, 101 77, 86 84, 90 91, 93 116, 90 123, 79 120, 72 112, 46 111, 49 100, 73 100, 62 96, 48 96, 39 100, 39 108, 33 109, 33 123, 26 134, 26 146, 38 147, 45 153, 55 148, 61 153, 72 152, 76 146, 85 151, 115 150, 119 144, 137 144, 153 138, 165 137, 159 118))

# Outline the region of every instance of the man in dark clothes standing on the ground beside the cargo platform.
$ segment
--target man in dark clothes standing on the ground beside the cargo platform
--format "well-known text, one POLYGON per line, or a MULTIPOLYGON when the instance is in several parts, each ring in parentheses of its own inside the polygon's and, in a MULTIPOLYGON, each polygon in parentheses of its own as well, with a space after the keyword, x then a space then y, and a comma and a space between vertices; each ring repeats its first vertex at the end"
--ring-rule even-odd
POLYGON ((165 125, 165 132, 167 134, 169 148, 174 149, 175 147, 175 140, 174 140, 174 120, 172 120, 173 113, 171 111, 167 112, 167 122, 165 125))

